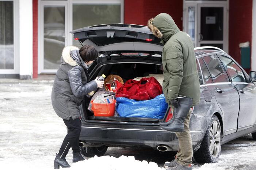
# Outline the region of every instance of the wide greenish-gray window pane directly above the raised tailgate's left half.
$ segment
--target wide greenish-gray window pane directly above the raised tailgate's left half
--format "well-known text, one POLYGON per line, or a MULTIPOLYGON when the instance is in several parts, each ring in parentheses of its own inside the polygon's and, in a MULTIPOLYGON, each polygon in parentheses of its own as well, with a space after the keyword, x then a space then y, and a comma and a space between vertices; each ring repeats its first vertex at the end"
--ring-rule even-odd
MULTIPOLYGON (((120 4, 73 4, 73 30, 99 24, 121 23, 120 4)), ((77 40, 73 45, 81 46, 77 40)))

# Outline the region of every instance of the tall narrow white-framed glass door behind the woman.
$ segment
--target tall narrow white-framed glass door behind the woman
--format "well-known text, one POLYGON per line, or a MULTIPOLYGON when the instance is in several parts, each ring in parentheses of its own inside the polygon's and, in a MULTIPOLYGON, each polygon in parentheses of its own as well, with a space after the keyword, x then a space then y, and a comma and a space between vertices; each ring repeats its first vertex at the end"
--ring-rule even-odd
POLYGON ((39 73, 56 73, 66 44, 66 3, 42 3, 39 73))

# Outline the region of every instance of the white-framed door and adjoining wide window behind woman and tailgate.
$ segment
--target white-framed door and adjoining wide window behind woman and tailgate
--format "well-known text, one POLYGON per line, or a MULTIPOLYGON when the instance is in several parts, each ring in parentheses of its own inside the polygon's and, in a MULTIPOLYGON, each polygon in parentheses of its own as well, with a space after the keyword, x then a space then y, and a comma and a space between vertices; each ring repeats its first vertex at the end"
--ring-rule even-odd
POLYGON ((56 73, 65 46, 81 47, 69 32, 123 22, 123 0, 40 0, 38 73, 56 73))

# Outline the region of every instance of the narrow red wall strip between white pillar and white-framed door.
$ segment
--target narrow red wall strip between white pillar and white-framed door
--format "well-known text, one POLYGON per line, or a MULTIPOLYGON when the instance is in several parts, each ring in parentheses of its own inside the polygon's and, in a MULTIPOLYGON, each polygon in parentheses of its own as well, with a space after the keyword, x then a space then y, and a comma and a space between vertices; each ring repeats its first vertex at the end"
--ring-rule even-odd
POLYGON ((33 78, 38 77, 38 0, 33 0, 33 78))

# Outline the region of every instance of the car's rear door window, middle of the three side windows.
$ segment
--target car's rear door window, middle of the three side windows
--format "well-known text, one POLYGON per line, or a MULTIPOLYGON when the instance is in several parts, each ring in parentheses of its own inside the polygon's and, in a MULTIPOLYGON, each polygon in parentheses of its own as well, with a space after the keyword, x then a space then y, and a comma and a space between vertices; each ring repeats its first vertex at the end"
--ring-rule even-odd
POLYGON ((203 57, 206 65, 209 68, 213 82, 227 82, 226 74, 224 73, 221 64, 215 55, 203 57))

